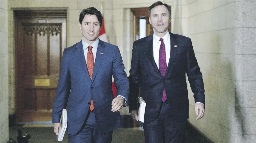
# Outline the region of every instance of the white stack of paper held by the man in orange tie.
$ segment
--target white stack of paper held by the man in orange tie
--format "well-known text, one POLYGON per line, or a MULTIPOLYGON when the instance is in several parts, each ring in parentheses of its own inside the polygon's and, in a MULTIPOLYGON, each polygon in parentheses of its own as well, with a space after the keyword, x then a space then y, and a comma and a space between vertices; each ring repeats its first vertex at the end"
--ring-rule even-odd
POLYGON ((60 123, 60 128, 59 128, 59 134, 58 134, 58 141, 62 141, 68 126, 66 109, 62 110, 62 115, 59 123, 60 123))

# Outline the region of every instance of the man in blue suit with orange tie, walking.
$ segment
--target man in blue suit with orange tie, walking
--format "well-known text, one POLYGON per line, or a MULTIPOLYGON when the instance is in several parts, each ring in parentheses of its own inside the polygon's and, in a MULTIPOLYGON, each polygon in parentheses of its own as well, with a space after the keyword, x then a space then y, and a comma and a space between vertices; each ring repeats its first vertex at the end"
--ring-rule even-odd
POLYGON ((52 122, 57 135, 67 106, 69 143, 111 143, 113 130, 122 127, 119 110, 127 104, 129 80, 119 48, 98 38, 102 19, 96 8, 82 10, 82 40, 63 52, 52 122))

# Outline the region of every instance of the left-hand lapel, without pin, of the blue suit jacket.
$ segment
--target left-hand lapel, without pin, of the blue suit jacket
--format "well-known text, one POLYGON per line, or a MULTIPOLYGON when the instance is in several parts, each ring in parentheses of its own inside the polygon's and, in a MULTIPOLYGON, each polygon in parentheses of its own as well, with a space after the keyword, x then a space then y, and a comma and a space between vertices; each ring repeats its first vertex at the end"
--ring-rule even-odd
POLYGON ((85 61, 85 54, 84 54, 84 48, 82 45, 82 40, 77 43, 76 48, 77 48, 76 54, 78 57, 78 67, 81 67, 82 70, 85 71, 86 79, 91 80, 88 69, 87 69, 86 61, 85 61))

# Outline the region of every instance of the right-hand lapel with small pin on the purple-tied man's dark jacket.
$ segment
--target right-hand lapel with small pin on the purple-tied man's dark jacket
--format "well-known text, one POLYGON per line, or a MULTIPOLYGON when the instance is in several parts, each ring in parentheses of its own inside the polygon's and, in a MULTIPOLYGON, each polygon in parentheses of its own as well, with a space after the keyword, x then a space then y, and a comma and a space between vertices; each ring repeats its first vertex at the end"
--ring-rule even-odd
POLYGON ((169 34, 170 34, 171 52, 170 52, 170 59, 169 59, 168 65, 167 65, 167 71, 165 73, 165 76, 170 71, 170 69, 172 67, 172 64, 174 62, 175 56, 177 54, 177 50, 179 48, 176 36, 174 34, 170 33, 170 32, 169 32, 169 34))

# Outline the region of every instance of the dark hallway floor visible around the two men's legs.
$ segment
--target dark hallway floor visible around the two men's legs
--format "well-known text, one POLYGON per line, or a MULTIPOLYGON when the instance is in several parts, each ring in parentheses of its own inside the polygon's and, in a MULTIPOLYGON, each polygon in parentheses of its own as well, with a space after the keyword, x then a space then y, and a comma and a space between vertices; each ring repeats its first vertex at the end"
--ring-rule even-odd
MULTIPOLYGON (((18 132, 21 129, 23 134, 31 135, 29 143, 59 143, 53 132, 53 124, 25 124, 9 127, 9 138, 17 141, 18 132)), ((62 143, 67 143, 67 134, 64 135, 62 143)), ((112 143, 145 143, 144 133, 141 127, 120 128, 113 132, 112 143)), ((193 130, 189 125, 186 129, 186 136, 183 143, 209 143, 202 136, 193 130)))

